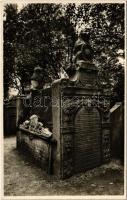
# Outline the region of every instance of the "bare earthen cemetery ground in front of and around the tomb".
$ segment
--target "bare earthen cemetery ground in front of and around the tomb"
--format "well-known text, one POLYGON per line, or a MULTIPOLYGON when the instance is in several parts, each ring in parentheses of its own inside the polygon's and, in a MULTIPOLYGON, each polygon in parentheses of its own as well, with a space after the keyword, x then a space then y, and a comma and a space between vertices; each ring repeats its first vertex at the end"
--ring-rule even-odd
POLYGON ((4 139, 4 195, 123 195, 123 165, 118 160, 66 180, 47 175, 16 150, 16 137, 4 139))

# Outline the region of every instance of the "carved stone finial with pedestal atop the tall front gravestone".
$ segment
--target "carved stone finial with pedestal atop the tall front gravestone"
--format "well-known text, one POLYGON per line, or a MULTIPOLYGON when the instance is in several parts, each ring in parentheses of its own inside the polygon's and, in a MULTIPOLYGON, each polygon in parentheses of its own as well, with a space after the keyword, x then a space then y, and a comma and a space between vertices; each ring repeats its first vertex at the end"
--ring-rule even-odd
POLYGON ((97 68, 93 64, 90 33, 81 31, 74 46, 73 65, 66 69, 69 80, 77 86, 97 88, 97 68))

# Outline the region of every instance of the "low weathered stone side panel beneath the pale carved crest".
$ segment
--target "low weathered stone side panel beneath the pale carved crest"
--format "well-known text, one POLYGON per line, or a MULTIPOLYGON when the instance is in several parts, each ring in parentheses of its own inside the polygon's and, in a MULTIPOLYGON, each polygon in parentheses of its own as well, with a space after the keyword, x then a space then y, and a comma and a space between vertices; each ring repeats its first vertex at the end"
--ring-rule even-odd
POLYGON ((17 132, 17 148, 22 153, 32 158, 42 169, 48 171, 49 168, 49 146, 51 143, 41 137, 32 135, 23 130, 17 132))

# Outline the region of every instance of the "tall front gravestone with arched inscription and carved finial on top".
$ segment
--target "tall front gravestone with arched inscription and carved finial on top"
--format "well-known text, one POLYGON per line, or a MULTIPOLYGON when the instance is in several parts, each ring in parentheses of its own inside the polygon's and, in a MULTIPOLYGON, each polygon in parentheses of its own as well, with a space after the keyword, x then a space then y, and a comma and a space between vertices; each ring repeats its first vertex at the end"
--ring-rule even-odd
POLYGON ((54 169, 62 178, 110 160, 109 100, 97 87, 88 35, 82 33, 82 38, 75 45, 70 79, 52 85, 52 98, 57 98, 57 107, 52 107, 57 140, 54 169))

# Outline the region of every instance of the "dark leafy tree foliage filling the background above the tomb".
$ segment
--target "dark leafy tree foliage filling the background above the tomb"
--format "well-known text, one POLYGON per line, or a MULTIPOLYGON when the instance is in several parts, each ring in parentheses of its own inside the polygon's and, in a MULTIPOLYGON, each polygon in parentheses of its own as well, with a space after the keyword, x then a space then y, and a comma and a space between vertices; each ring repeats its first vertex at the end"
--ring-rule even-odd
POLYGON ((78 32, 90 32, 98 84, 110 90, 112 104, 124 98, 124 4, 28 4, 20 11, 5 5, 4 96, 9 86, 24 92, 33 69, 43 70, 43 84, 71 66, 78 32), (17 84, 20 79, 21 87, 17 84))

